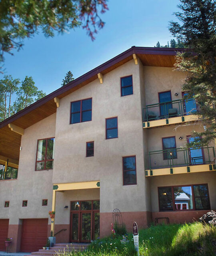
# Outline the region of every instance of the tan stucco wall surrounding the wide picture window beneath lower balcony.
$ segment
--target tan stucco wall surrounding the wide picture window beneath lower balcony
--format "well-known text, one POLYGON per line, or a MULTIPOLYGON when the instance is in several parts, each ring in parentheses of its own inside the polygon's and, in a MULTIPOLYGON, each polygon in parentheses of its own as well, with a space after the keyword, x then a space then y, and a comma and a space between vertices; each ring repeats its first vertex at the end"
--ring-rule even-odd
MULTIPOLYGON (((198 168, 198 166, 197 166, 198 168)), ((176 185, 191 185, 191 184, 208 184, 210 206, 212 210, 216 210, 216 171, 197 172, 186 174, 174 174, 164 176, 148 177, 150 179, 150 194, 152 201, 152 212, 159 212, 158 203, 158 187, 161 186, 176 186, 176 185)), ((164 212, 164 216, 166 213, 164 212)))

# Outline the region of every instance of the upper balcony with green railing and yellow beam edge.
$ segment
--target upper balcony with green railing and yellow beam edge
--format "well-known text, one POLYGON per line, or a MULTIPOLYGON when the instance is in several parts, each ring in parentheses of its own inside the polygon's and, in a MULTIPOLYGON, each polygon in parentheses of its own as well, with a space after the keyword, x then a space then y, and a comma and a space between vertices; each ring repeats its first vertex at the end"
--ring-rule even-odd
POLYGON ((143 128, 178 124, 197 120, 196 102, 191 100, 172 100, 146 105, 143 108, 143 128))

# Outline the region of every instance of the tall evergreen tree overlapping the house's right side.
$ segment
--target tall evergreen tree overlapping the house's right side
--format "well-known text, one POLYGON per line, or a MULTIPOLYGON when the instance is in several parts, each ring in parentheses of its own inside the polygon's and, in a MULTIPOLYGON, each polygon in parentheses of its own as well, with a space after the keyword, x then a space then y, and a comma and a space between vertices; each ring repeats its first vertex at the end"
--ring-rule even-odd
POLYGON ((194 131, 190 146, 204 146, 216 138, 216 2, 214 0, 180 0, 178 22, 170 22, 172 35, 187 50, 177 54, 176 68, 187 73, 182 87, 186 98, 196 100, 202 132, 194 131))

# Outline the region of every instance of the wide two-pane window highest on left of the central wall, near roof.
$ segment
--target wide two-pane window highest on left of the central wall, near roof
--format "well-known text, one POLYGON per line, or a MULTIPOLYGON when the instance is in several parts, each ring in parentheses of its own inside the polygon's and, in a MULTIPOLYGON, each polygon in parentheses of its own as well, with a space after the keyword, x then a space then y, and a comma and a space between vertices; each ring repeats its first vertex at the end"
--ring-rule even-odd
POLYGON ((71 102, 70 124, 92 120, 92 98, 71 102))

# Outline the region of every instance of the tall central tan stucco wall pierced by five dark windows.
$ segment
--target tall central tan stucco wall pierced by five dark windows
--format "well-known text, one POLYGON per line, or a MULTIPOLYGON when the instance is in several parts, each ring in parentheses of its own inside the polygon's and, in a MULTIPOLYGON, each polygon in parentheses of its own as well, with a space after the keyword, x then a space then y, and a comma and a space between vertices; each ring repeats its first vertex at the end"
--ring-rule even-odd
POLYGON ((62 98, 57 110, 53 183, 100 180, 100 211, 145 211, 139 66, 134 60, 62 98), (133 75, 133 94, 121 97, 120 77, 133 75), (70 102, 92 97, 92 121, 70 122, 70 102), (135 104, 136 102, 136 104, 135 104), (118 138, 106 140, 105 119, 118 116, 118 138), (86 158, 86 142, 94 157, 86 158), (122 156, 136 155, 137 185, 123 186, 122 156), (64 170, 64 171, 62 171, 64 170), (59 173, 61 172, 61 175, 59 173), (127 202, 127 203, 125 203, 127 202))

